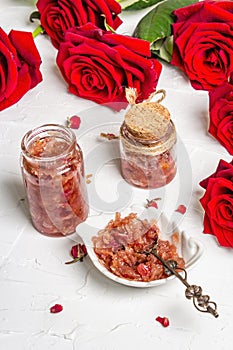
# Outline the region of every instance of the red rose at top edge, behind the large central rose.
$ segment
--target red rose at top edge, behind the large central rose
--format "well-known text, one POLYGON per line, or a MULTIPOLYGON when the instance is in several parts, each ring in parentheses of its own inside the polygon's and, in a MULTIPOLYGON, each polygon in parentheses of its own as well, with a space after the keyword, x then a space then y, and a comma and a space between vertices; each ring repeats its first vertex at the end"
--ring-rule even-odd
POLYGON ((91 22, 104 29, 104 21, 113 29, 122 23, 117 16, 121 6, 115 0, 38 0, 41 25, 58 48, 67 29, 91 22))

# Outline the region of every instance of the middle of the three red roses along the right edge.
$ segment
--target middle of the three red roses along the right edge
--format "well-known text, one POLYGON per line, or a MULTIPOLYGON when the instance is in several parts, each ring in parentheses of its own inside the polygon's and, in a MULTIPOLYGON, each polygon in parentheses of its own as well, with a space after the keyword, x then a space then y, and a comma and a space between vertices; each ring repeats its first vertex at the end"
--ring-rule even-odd
POLYGON ((209 132, 233 155, 233 85, 209 92, 209 132))

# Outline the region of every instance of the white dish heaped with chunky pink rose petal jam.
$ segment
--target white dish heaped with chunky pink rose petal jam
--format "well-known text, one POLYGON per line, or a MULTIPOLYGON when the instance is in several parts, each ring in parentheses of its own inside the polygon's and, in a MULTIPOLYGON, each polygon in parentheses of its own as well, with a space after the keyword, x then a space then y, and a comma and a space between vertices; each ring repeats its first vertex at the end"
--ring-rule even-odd
POLYGON ((77 233, 101 273, 132 287, 155 287, 174 278, 151 253, 155 246, 165 261, 177 263, 178 272, 194 266, 203 254, 200 242, 184 233, 177 237, 177 232, 163 238, 155 220, 140 219, 135 213, 123 218, 120 213, 115 218, 109 214, 89 217, 77 227, 77 233))

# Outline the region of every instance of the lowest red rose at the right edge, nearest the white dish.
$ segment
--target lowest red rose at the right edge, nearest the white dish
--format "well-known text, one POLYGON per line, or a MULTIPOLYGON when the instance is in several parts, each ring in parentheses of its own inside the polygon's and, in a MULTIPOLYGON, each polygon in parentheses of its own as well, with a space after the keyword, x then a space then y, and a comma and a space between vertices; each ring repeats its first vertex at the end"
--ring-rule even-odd
POLYGON ((221 246, 233 247, 233 161, 220 160, 215 173, 200 185, 206 190, 200 199, 204 233, 215 235, 221 246))

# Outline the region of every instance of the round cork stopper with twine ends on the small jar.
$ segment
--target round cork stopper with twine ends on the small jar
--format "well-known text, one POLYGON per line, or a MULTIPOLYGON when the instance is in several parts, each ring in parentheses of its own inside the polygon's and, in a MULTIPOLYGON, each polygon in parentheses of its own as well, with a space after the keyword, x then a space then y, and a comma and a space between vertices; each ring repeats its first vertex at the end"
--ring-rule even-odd
POLYGON ((158 90, 147 101, 136 104, 136 90, 126 89, 126 98, 131 106, 125 115, 125 124, 132 135, 144 140, 159 140, 166 134, 170 113, 160 104, 165 96, 165 90, 158 90), (150 102, 157 94, 162 94, 162 97, 156 102, 150 102))

